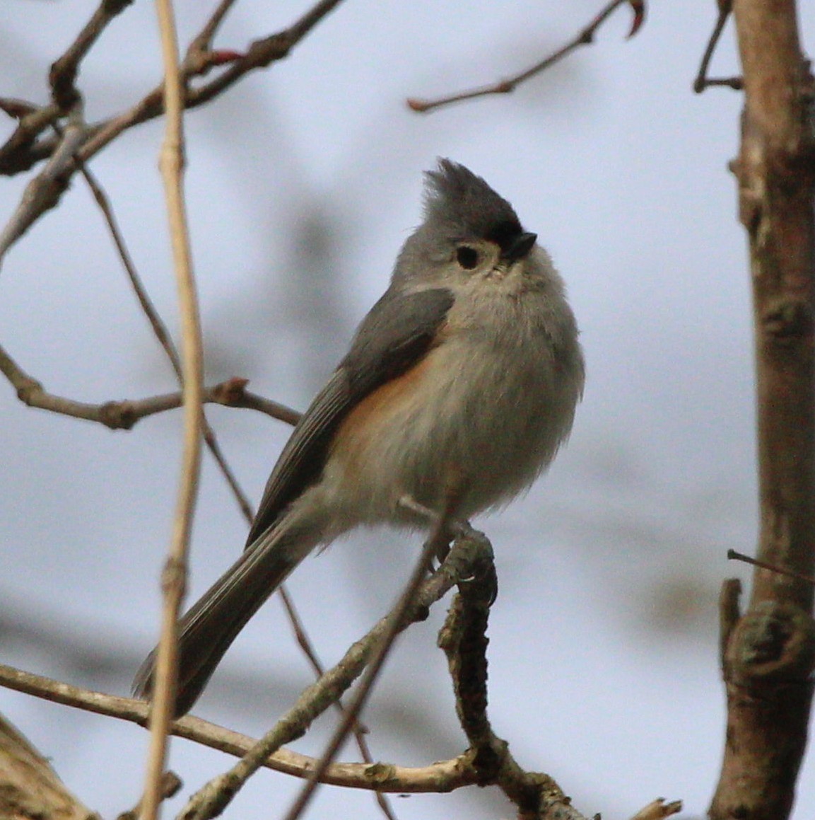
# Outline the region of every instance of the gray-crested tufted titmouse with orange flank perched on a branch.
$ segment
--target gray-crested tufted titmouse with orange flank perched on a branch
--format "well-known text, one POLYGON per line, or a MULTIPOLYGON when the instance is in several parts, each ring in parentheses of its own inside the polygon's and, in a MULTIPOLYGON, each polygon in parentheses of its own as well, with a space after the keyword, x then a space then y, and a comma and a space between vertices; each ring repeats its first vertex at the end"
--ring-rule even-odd
MULTIPOLYGON (((424 222, 274 466, 242 556, 179 623, 176 713, 315 547, 360 525, 428 528, 526 490, 582 396, 564 283, 537 235, 464 166, 428 171, 424 222)), ((134 692, 152 689, 153 654, 134 692)))

